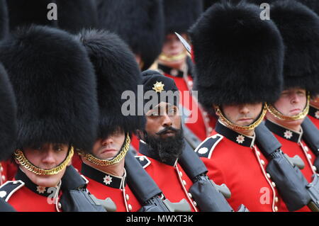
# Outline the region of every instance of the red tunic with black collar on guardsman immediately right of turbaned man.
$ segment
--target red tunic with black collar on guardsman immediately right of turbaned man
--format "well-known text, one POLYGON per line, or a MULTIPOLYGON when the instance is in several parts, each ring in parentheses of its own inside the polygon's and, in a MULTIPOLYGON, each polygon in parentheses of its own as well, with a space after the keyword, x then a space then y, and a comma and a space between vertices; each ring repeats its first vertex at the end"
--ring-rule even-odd
POLYGON ((252 212, 288 211, 266 171, 266 157, 254 145, 254 137, 241 135, 218 122, 213 136, 195 152, 208 168, 209 178, 228 186, 228 202, 234 210, 244 204, 252 212))

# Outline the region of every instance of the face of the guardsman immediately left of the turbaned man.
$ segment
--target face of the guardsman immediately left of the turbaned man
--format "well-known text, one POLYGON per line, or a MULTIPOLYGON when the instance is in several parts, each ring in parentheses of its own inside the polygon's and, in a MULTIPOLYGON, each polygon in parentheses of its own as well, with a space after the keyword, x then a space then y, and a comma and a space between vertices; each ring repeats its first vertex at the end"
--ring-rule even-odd
POLYGON ((92 153, 95 157, 104 160, 113 159, 121 151, 125 140, 125 132, 117 130, 105 139, 99 139, 94 143, 92 153))

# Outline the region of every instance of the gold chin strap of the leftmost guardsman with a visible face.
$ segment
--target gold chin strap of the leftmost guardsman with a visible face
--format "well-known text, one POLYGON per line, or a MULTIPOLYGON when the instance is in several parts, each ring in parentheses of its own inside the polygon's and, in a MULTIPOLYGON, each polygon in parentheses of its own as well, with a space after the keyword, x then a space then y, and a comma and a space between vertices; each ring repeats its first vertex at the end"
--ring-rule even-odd
POLYGON ((23 166, 24 168, 28 169, 28 171, 33 172, 33 174, 37 175, 55 175, 60 173, 65 167, 67 167, 67 164, 71 161, 72 157, 74 154, 73 147, 69 149, 69 153, 67 154, 67 157, 65 158, 65 161, 63 161, 60 165, 56 166, 55 168, 52 169, 41 169, 32 163, 28 161, 28 159, 24 156, 23 152, 21 149, 17 149, 16 152, 14 152, 14 155, 16 159, 18 160, 19 164, 23 166))

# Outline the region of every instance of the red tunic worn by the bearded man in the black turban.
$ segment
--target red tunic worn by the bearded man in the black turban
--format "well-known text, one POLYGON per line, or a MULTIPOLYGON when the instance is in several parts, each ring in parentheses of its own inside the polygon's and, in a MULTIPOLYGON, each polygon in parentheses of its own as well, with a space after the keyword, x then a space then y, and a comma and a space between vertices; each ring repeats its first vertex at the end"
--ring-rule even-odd
POLYGON ((198 211, 196 208, 197 204, 188 193, 193 183, 181 166, 176 161, 172 164, 159 162, 157 159, 149 157, 146 149, 147 145, 140 142, 140 153, 137 159, 155 183, 157 183, 164 196, 172 203, 178 203, 184 198, 191 205, 193 212, 198 211))

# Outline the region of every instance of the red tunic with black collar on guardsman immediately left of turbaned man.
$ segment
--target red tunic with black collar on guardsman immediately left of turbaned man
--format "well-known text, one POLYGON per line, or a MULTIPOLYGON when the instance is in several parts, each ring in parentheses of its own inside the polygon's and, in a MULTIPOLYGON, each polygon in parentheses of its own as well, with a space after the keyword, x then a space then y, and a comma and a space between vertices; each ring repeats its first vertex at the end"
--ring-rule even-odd
POLYGON ((111 198, 116 204, 116 212, 140 210, 141 205, 126 183, 125 176, 106 174, 86 164, 82 165, 81 173, 89 181, 87 184, 89 192, 99 199, 111 198))

